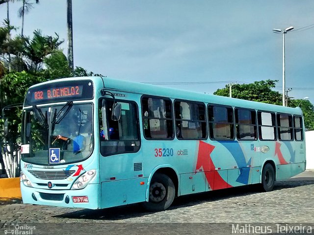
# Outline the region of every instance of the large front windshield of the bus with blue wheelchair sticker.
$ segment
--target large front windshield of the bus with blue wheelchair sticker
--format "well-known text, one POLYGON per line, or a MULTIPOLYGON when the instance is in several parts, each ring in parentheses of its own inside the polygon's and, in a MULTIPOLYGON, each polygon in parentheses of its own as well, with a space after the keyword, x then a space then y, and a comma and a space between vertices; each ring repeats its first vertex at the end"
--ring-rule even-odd
POLYGON ((22 160, 49 164, 49 148, 60 149, 59 164, 80 162, 93 150, 92 104, 26 108, 23 112, 22 160))

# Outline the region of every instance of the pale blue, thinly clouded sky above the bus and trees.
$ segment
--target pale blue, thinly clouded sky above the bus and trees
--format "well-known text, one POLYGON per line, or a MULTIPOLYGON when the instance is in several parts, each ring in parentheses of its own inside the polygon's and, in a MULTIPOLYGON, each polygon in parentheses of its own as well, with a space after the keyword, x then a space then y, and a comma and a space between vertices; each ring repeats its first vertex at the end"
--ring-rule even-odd
MULTIPOLYGON (((30 0, 31 1, 31 0, 30 0)), ((107 77, 212 94, 230 81, 279 80, 314 103, 313 0, 73 0, 74 65, 107 77), (306 27, 310 25, 309 27, 306 27), (313 27, 313 28, 312 28, 313 27), (170 82, 183 82, 171 85, 170 82), (186 84, 195 82, 196 84, 186 84), (184 84, 185 83, 185 84, 184 84)), ((21 1, 10 3, 19 26, 21 1)), ((6 5, 0 5, 0 19, 6 5)), ((67 54, 66 0, 40 0, 24 34, 56 32, 67 54)))

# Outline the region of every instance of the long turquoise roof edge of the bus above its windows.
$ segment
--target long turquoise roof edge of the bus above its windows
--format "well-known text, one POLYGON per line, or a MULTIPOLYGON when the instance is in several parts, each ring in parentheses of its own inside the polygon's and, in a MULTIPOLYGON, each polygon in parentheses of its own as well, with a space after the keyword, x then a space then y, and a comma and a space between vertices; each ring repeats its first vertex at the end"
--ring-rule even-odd
POLYGON ((99 89, 103 88, 103 84, 105 84, 106 89, 121 91, 121 92, 131 92, 137 94, 149 94, 156 96, 164 96, 169 98, 176 99, 186 99, 193 101, 201 101, 206 103, 213 104, 221 104, 221 105, 229 105, 234 107, 243 107, 243 108, 251 108, 263 111, 272 111, 279 113, 290 113, 294 115, 302 115, 302 111, 299 107, 290 108, 283 107, 280 105, 266 104, 261 102, 243 100, 230 98, 225 96, 213 95, 213 94, 203 94, 198 92, 191 92, 181 89, 161 87, 151 84, 139 83, 139 82, 131 82, 127 80, 114 79, 109 77, 71 77, 71 78, 61 78, 56 80, 51 80, 48 82, 43 82, 40 84, 36 84, 32 87, 40 86, 43 84, 53 83, 53 82, 63 82, 63 81, 75 81, 75 80, 92 80, 95 85, 95 91, 97 92, 99 89), (104 83, 103 83, 104 81, 104 83))

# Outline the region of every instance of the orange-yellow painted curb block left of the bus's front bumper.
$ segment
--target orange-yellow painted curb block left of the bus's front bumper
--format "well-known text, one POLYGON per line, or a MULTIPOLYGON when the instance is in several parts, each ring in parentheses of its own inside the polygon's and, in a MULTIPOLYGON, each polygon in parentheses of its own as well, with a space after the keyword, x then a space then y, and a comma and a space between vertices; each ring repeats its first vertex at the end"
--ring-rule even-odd
POLYGON ((0 200, 22 199, 19 178, 0 179, 0 200))

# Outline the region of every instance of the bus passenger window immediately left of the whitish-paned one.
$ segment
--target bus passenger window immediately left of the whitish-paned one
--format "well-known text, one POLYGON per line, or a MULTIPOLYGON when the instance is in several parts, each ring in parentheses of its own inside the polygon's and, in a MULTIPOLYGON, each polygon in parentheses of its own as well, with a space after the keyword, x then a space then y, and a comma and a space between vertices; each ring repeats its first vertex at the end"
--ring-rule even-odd
POLYGON ((235 109, 235 128, 238 140, 257 140, 256 112, 249 109, 235 109))

